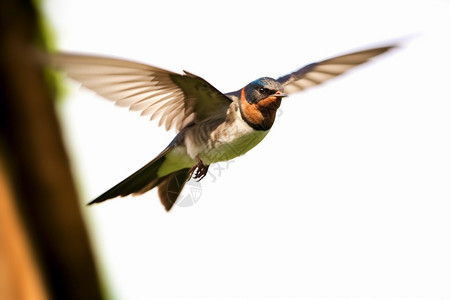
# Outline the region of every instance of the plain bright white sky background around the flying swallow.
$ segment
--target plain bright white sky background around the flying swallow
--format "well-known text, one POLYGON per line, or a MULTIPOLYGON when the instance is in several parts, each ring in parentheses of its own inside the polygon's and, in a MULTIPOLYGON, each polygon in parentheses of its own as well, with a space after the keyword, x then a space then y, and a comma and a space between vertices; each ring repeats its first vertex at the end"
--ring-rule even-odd
MULTIPOLYGON (((450 297, 449 1, 46 8, 61 49, 185 69, 223 92, 415 36, 286 98, 260 145, 211 166, 195 205, 167 214, 154 190, 83 206, 112 299, 450 297)), ((71 87, 61 121, 86 203, 174 132, 71 87)))

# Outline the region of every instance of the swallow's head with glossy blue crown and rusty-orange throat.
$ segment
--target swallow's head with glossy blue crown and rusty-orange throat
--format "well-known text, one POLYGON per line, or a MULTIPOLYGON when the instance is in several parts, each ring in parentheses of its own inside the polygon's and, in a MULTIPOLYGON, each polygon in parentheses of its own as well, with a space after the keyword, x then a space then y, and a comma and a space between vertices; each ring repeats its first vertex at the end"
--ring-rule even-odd
POLYGON ((278 81, 269 77, 259 78, 241 90, 241 115, 254 129, 268 130, 275 121, 281 99, 286 96, 278 81))

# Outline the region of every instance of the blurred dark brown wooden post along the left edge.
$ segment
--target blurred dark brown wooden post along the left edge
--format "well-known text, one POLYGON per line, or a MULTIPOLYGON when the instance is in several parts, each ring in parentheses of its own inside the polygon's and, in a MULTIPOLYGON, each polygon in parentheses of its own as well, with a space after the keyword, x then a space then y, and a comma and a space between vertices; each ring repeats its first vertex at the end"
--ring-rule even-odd
POLYGON ((0 1, 0 299, 101 299, 35 2, 0 1))

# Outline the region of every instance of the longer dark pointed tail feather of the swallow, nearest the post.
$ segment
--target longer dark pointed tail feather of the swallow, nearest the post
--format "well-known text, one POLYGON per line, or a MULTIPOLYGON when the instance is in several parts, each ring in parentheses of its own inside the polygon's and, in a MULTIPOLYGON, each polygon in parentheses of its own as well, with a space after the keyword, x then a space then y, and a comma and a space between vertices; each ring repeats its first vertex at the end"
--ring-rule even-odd
MULTIPOLYGON (((166 148, 155 159, 146 164, 144 167, 127 177, 111 189, 98 196, 96 199, 88 203, 88 205, 94 203, 100 203, 118 196, 127 196, 130 194, 142 194, 158 184, 161 183, 163 178, 158 178, 158 169, 165 161, 165 155, 172 149, 172 147, 166 148)), ((167 175, 170 176, 170 175, 167 175)), ((166 176, 166 177, 167 177, 166 176)), ((181 191, 181 190, 180 190, 181 191)))

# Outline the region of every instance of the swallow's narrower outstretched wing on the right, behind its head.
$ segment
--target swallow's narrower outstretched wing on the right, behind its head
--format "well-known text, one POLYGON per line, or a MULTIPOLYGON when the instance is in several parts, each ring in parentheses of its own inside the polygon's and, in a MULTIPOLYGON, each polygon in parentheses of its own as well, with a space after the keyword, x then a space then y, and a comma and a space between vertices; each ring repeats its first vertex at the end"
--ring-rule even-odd
POLYGON ((300 92, 341 75, 347 70, 365 63, 372 57, 380 55, 394 47, 396 46, 367 49, 315 62, 291 74, 278 78, 278 82, 281 83, 287 94, 300 92))

